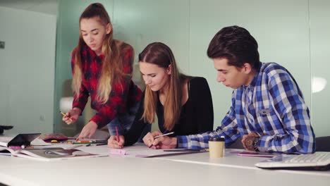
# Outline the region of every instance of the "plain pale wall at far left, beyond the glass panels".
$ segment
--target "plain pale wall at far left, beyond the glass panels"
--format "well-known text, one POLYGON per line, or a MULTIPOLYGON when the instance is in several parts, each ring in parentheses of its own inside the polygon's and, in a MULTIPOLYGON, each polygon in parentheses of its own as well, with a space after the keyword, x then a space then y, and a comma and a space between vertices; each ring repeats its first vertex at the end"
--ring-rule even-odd
POLYGON ((0 7, 0 125, 53 132, 56 16, 0 7))

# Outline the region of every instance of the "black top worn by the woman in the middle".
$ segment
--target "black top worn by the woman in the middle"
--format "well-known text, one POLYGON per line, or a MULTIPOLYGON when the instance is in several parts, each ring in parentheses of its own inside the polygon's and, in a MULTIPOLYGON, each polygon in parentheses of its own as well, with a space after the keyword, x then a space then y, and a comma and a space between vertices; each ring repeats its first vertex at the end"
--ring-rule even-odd
MULTIPOLYGON (((130 130, 125 132, 125 145, 135 144, 145 125, 150 125, 140 118, 143 115, 145 94, 140 101, 140 107, 130 130)), ((195 135, 213 130, 213 104, 209 85, 204 77, 192 77, 188 81, 188 100, 181 107, 180 119, 171 131, 164 128, 164 106, 157 100, 157 118, 159 130, 163 133, 174 132, 177 135, 195 135)))

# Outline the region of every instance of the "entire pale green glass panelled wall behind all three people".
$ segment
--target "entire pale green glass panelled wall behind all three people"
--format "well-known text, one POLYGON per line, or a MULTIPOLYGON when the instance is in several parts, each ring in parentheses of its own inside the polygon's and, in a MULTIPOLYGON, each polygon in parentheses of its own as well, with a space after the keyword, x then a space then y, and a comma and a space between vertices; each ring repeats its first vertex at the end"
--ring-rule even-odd
MULTIPOLYGON (((61 123, 61 97, 68 95, 71 79, 70 54, 78 41, 78 18, 88 4, 96 1, 59 1, 56 44, 56 132, 69 130, 61 123), (64 86, 64 87, 63 87, 64 86)), ((330 2, 326 0, 113 0, 98 1, 106 6, 114 25, 114 37, 128 42, 137 55, 150 42, 164 42, 175 54, 183 73, 207 78, 214 101, 214 128, 221 123, 230 106, 232 89, 216 82, 216 71, 207 58, 209 41, 222 27, 240 25, 257 39, 262 62, 276 62, 291 71, 310 107, 317 136, 330 135, 326 120, 326 95, 319 90, 329 79, 330 2), (312 77, 314 78, 312 86, 312 77), (323 79, 322 79, 323 78, 323 79), (323 81, 324 82, 324 81, 323 81), (321 83, 322 84, 322 83, 321 83), (312 92, 312 87, 314 91, 312 92), (316 92, 318 89, 319 92, 316 92)), ((138 73, 138 70, 137 70, 138 73)), ((328 93, 326 93, 328 92, 328 93)), ((80 126, 81 128, 82 126, 80 126)), ((73 128, 70 128, 73 130, 73 128)), ((76 130, 76 129, 74 129, 76 130)))

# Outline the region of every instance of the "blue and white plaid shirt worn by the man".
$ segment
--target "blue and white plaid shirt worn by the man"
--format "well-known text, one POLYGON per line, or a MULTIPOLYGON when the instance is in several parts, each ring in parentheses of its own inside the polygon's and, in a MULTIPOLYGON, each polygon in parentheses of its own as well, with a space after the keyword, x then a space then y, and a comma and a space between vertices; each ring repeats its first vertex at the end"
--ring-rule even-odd
POLYGON ((212 132, 177 136, 178 148, 208 148, 210 137, 224 136, 226 146, 256 132, 259 151, 312 153, 315 135, 302 92, 291 73, 276 63, 261 63, 248 86, 233 91, 231 108, 212 132))

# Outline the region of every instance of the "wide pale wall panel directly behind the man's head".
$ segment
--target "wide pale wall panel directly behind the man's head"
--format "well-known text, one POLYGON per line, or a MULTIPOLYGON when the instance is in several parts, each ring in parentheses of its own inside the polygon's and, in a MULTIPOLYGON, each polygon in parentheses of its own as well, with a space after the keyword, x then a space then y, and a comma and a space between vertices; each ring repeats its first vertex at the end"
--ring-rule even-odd
POLYGON ((209 82, 214 128, 231 106, 233 89, 216 82, 216 71, 206 53, 216 32, 230 25, 245 27, 255 37, 260 61, 279 63, 293 74, 310 107, 307 0, 190 0, 190 6, 190 74, 202 75, 209 82))

